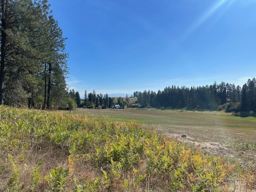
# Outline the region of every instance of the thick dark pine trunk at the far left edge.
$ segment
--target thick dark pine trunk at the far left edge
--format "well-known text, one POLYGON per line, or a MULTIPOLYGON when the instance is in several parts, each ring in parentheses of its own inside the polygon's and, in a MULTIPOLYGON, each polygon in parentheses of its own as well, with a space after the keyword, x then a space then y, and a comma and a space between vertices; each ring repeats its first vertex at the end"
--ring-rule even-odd
POLYGON ((5 17, 5 0, 1 0, 2 12, 2 28, 1 28, 1 61, 0 61, 0 104, 3 104, 4 99, 4 79, 5 79, 5 55, 6 55, 6 17, 5 17))

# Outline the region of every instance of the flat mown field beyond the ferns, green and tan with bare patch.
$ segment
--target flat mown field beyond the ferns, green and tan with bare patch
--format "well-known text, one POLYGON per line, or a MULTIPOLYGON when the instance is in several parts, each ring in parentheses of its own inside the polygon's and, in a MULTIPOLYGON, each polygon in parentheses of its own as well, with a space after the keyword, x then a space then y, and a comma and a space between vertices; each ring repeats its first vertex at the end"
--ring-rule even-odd
POLYGON ((201 145, 214 154, 236 158, 244 165, 256 164, 256 118, 236 117, 230 113, 188 110, 94 110, 76 109, 74 113, 117 122, 136 122, 169 137, 201 145), (183 139, 182 134, 187 137, 183 139))

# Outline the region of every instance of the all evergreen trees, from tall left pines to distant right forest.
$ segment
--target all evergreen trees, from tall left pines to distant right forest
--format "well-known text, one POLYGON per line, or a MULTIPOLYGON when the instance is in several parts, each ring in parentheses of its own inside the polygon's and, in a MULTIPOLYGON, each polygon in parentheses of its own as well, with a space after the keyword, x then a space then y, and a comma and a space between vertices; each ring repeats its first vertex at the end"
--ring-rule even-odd
MULTIPOLYGON (((128 106, 108 94, 87 94, 80 100, 70 90, 65 40, 47 0, 0 0, 0 104, 29 108, 70 109, 128 106)), ((221 82, 199 87, 168 86, 158 92, 134 92, 142 108, 200 108, 256 111, 256 80, 242 86, 221 82)))

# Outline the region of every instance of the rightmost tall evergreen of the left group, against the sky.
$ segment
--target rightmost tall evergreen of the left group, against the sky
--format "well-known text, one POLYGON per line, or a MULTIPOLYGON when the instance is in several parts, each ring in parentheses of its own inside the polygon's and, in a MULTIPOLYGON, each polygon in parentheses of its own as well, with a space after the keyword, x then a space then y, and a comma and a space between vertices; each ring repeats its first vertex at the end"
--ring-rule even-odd
POLYGON ((49 107, 50 105, 58 106, 59 101, 63 99, 63 92, 67 87, 65 78, 68 74, 66 63, 68 55, 65 53, 66 38, 62 37, 62 30, 53 16, 48 18, 47 34, 48 52, 44 62, 44 76, 45 84, 47 83, 47 86, 45 85, 45 88, 47 87, 46 105, 49 107))

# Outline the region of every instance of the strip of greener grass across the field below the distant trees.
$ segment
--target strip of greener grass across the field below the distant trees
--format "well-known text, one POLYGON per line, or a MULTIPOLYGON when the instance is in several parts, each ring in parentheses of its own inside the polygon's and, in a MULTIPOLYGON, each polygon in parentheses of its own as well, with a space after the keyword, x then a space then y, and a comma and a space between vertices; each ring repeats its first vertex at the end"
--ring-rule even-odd
POLYGON ((108 120, 140 122, 142 124, 212 126, 221 128, 256 129, 256 118, 240 118, 227 113, 190 112, 177 110, 87 110, 78 109, 75 113, 89 116, 104 116, 108 120))

